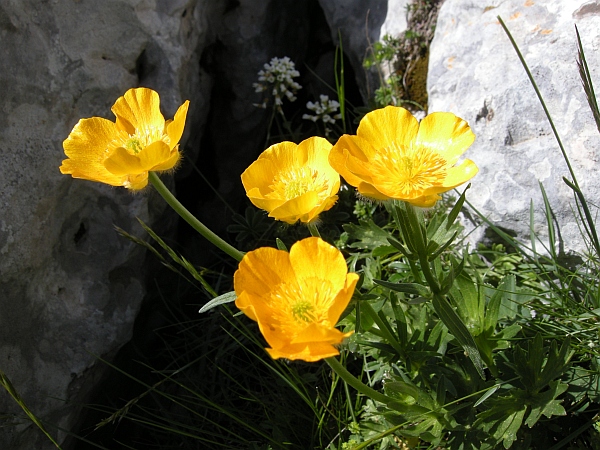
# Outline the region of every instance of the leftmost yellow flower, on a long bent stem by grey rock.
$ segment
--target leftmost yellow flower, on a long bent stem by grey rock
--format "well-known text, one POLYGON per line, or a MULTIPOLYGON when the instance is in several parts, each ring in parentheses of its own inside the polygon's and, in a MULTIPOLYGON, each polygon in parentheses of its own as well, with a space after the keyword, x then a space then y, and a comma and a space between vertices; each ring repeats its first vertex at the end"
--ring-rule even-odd
POLYGON ((172 169, 179 161, 189 101, 173 120, 160 113, 160 99, 151 89, 128 90, 112 107, 116 123, 100 117, 81 119, 64 141, 68 159, 60 171, 73 178, 143 189, 149 171, 172 169))

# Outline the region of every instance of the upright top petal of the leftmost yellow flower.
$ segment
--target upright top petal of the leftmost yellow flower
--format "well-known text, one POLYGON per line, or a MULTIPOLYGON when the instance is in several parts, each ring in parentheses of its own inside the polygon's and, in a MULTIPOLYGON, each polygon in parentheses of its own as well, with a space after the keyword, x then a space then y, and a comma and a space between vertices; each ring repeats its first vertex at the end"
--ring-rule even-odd
POLYGON ((129 89, 117 99, 111 110, 117 116, 117 127, 128 134, 133 135, 136 130, 164 130, 160 98, 152 89, 129 89))

